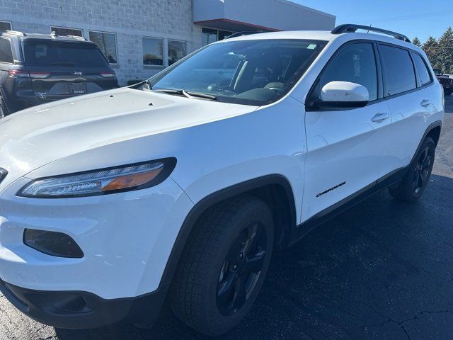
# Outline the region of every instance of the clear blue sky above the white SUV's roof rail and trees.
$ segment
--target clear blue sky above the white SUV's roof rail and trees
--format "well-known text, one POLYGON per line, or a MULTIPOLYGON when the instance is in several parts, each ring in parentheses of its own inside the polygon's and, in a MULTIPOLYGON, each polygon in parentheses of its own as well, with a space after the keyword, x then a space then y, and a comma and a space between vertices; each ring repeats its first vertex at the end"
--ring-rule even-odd
POLYGON ((453 27, 452 0, 292 0, 337 16, 337 24, 358 23, 395 30, 422 42, 433 35, 439 38, 453 27))

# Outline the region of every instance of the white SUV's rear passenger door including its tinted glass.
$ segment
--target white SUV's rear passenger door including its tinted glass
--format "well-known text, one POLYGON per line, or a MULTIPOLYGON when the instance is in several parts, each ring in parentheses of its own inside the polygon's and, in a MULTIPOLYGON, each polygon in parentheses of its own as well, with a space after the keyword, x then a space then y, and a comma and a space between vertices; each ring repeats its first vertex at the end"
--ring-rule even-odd
POLYGON ((397 45, 379 43, 384 75, 384 97, 389 104, 392 126, 385 136, 391 147, 379 177, 407 166, 435 111, 430 90, 432 75, 420 55, 397 45))

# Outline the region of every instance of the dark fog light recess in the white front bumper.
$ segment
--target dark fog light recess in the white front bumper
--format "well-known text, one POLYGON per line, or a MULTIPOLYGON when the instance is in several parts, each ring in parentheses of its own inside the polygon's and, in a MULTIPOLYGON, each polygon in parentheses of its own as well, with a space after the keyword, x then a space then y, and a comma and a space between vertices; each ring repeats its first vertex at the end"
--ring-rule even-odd
POLYGON ((62 232, 25 229, 23 231, 23 243, 26 246, 30 246, 30 248, 51 256, 71 259, 84 257, 84 252, 74 239, 62 232))

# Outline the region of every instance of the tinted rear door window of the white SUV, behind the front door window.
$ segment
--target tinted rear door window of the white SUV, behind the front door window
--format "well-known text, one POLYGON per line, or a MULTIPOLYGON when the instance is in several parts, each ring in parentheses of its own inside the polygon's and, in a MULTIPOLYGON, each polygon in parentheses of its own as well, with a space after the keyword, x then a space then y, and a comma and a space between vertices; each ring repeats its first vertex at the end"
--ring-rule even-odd
POLYGON ((393 96, 415 89, 415 73, 411 56, 407 50, 381 45, 384 63, 385 96, 393 96))

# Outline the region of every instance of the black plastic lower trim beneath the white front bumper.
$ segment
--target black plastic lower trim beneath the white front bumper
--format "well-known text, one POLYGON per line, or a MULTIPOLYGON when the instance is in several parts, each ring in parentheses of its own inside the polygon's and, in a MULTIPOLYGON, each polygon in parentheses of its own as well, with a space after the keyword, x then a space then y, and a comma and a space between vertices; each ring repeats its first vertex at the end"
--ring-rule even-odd
POLYGON ((105 300, 86 292, 47 292, 10 285, 0 280, 0 291, 25 315, 57 328, 87 329, 122 320, 150 325, 159 317, 169 283, 140 297, 105 300))

